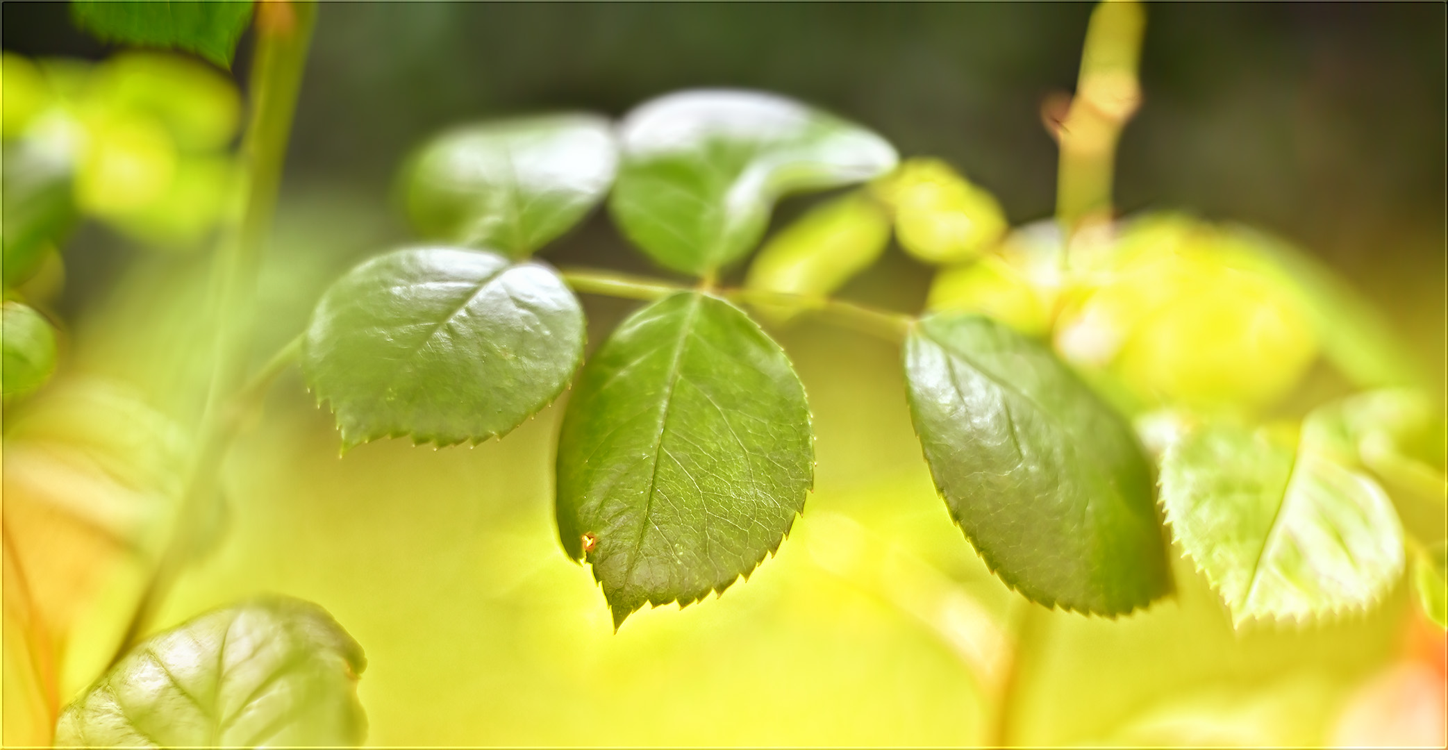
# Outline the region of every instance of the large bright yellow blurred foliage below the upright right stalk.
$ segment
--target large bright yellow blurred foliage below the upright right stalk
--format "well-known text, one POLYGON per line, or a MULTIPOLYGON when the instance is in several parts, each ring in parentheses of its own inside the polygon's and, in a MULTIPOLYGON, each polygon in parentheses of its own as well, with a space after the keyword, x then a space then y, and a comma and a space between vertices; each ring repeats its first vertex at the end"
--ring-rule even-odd
POLYGON ((1318 336, 1292 285, 1216 227, 1137 220, 1102 261, 1064 306, 1056 346, 1083 369, 1114 374, 1144 403, 1260 407, 1316 356, 1318 336))

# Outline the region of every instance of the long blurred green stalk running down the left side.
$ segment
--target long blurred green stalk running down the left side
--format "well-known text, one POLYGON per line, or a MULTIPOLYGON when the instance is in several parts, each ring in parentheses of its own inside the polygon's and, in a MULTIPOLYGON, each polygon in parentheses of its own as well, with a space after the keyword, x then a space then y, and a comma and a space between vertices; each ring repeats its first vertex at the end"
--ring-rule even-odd
POLYGON ((277 206, 316 14, 313 0, 256 3, 251 114, 240 149, 248 182, 243 203, 223 227, 216 249, 209 316, 214 342, 213 366, 198 447, 187 472, 169 543, 136 604, 111 663, 146 634, 171 586, 197 552, 198 536, 217 513, 219 473, 237 417, 232 400, 246 378, 256 278, 277 206))

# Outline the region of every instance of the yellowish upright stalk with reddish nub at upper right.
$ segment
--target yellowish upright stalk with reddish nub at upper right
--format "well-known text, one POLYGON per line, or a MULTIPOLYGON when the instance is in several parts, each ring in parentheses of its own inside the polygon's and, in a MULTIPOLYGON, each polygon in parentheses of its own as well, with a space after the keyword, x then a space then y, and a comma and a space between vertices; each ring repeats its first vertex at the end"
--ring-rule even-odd
POLYGON ((1056 217, 1067 246, 1083 226, 1111 220, 1116 142, 1141 104, 1137 65, 1145 23, 1135 0, 1105 0, 1090 14, 1076 96, 1053 132, 1061 149, 1056 217))

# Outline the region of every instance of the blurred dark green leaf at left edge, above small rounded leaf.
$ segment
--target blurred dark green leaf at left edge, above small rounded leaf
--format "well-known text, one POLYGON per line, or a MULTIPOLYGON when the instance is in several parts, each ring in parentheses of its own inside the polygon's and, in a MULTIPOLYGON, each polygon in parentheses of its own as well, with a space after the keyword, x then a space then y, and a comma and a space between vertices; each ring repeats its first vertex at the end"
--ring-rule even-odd
POLYGON ((49 243, 65 237, 77 222, 70 165, 30 145, 6 145, 0 169, 4 285, 23 284, 39 268, 49 243))

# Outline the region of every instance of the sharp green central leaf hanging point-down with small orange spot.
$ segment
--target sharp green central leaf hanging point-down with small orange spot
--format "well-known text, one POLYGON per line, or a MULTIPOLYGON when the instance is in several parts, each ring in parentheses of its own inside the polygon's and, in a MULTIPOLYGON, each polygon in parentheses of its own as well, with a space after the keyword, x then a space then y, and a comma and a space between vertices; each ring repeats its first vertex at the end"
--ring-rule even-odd
POLYGON ((738 308, 681 292, 584 368, 557 446, 557 528, 623 624, 702 599, 779 549, 814 481, 804 385, 738 308))

